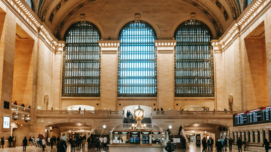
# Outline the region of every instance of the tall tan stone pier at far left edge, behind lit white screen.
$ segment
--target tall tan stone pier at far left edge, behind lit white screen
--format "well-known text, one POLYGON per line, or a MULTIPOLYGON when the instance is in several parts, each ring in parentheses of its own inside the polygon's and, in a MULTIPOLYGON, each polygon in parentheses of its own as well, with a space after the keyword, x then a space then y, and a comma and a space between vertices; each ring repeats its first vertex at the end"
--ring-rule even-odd
MULTIPOLYGON (((14 54, 16 39, 16 20, 13 13, 1 13, 0 15, 0 122, 3 122, 3 115, 11 116, 12 122, 12 91, 13 91, 13 72, 14 54), (9 109, 4 109, 4 101, 9 102, 9 109)), ((1 136, 11 136, 12 129, 2 130, 1 136)), ((8 142, 6 142, 8 144, 8 142)))

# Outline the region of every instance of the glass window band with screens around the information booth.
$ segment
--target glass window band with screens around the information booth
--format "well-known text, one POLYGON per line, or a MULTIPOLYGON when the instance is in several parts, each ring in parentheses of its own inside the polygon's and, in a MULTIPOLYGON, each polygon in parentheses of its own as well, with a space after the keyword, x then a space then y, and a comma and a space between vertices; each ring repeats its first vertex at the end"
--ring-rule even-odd
POLYGON ((167 145, 166 131, 110 131, 110 144, 167 145))

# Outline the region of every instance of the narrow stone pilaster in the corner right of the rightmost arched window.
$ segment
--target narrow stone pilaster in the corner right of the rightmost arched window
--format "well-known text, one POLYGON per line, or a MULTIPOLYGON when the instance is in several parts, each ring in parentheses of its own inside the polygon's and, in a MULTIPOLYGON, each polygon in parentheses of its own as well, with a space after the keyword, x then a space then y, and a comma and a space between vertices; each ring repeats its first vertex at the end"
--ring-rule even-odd
MULTIPOLYGON (((223 59, 222 59, 222 52, 221 52, 221 45, 218 44, 218 40, 211 40, 211 44, 213 46, 213 63, 214 63, 214 80, 215 80, 215 109, 224 109, 229 107, 227 102, 225 101, 225 84, 224 84, 224 68, 223 68, 223 59), (216 74, 218 73, 218 74, 216 74), (223 102, 222 102, 223 101, 223 102), (219 105, 217 105, 219 103, 219 105)), ((228 109, 228 108, 227 108, 228 109)))

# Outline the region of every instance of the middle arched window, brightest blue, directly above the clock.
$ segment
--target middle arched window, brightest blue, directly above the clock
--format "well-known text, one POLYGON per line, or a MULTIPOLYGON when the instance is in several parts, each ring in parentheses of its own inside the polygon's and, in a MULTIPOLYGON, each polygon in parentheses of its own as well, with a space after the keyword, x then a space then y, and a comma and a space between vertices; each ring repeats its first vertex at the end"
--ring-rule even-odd
POLYGON ((156 33, 146 22, 132 21, 119 33, 118 97, 157 97, 156 33))

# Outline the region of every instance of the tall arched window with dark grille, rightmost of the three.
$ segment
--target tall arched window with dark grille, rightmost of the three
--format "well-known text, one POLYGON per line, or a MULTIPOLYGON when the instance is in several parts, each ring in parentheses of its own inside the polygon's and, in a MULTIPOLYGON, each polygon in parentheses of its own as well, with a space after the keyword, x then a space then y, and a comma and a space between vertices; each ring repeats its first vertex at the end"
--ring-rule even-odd
POLYGON ((214 97, 212 33, 203 22, 188 20, 175 31, 175 97, 214 97))

